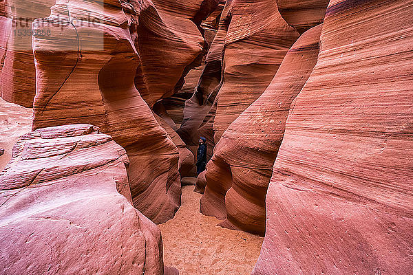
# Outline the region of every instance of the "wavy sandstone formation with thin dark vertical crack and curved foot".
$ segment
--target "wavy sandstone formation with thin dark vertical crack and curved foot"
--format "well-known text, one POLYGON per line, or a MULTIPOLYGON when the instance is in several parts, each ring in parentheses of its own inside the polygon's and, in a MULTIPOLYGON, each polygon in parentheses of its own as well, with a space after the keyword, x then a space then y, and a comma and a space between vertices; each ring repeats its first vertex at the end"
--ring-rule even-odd
POLYGON ((43 26, 51 35, 36 36, 33 42, 33 129, 99 126, 128 153, 134 206, 161 223, 180 205, 178 149, 134 86, 140 65, 133 32, 140 6, 134 4, 59 1, 50 17, 34 22, 34 30, 43 26))

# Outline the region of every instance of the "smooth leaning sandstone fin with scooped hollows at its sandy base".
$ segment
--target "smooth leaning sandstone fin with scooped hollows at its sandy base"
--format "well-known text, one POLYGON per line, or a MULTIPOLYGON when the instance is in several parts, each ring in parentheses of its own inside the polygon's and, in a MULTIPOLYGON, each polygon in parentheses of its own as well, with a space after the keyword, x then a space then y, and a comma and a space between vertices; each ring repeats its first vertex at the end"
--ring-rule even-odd
POLYGON ((298 39, 266 91, 226 129, 215 147, 205 173, 201 212, 225 219, 226 227, 264 235, 265 195, 273 163, 290 104, 317 62, 320 32, 321 25, 298 39))

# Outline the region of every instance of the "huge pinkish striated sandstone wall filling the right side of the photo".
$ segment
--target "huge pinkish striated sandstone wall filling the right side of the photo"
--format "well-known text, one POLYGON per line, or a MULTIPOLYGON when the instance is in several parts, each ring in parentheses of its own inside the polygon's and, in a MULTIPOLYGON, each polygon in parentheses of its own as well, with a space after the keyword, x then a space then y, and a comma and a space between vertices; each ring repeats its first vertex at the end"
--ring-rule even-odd
POLYGON ((412 1, 330 1, 253 274, 412 272, 412 13, 412 1))

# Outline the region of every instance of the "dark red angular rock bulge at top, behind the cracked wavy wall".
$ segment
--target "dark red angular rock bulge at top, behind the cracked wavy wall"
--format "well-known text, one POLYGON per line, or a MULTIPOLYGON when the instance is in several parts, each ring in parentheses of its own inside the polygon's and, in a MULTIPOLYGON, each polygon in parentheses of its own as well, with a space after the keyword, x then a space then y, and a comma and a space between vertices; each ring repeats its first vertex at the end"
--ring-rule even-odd
POLYGON ((218 0, 152 3, 140 12, 137 40, 142 62, 136 87, 149 107, 172 96, 182 87, 189 70, 200 65, 207 50, 200 24, 213 12, 218 0))

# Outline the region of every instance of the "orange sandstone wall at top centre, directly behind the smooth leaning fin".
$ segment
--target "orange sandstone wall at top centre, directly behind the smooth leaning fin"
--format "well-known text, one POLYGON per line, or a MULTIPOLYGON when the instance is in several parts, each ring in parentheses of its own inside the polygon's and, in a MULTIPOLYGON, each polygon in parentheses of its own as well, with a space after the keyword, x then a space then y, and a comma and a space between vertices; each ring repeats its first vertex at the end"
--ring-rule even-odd
POLYGON ((223 83, 213 130, 222 133, 273 80, 298 32, 281 17, 273 0, 232 1, 224 41, 223 83))

